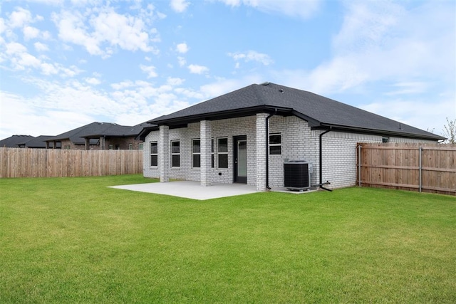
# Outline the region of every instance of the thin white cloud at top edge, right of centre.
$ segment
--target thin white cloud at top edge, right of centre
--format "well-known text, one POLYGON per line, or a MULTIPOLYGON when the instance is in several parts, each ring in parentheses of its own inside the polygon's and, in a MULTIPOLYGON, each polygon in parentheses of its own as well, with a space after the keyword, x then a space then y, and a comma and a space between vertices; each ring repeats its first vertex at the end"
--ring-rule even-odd
POLYGON ((219 0, 228 6, 252 6, 268 14, 283 14, 308 19, 314 16, 321 6, 321 0, 219 0))

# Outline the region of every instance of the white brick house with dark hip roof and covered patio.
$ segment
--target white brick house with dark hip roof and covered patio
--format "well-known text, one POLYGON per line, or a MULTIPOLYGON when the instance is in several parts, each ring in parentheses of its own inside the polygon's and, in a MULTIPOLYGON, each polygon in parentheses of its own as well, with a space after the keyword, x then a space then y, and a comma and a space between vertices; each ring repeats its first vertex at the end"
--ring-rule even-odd
POLYGON ((284 187, 284 160, 305 159, 311 184, 356 183, 357 142, 437 142, 442 137, 274 83, 249 85, 150 120, 142 130, 144 175, 284 187))

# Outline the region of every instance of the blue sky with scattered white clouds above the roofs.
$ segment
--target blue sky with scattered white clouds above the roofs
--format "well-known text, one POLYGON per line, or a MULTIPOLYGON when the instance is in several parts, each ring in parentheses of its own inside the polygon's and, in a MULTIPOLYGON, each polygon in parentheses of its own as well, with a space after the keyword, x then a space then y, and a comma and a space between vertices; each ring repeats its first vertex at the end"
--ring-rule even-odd
POLYGON ((0 139, 137 125, 252 83, 442 134, 456 1, 0 2, 0 139))

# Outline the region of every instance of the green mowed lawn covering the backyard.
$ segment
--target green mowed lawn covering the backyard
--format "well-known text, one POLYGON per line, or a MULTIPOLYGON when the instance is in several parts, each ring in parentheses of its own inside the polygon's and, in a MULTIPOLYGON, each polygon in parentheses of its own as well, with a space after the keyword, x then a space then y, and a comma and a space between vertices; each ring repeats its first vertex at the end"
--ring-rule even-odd
POLYGON ((454 196, 108 188, 142 182, 0 179, 0 303, 456 303, 454 196))

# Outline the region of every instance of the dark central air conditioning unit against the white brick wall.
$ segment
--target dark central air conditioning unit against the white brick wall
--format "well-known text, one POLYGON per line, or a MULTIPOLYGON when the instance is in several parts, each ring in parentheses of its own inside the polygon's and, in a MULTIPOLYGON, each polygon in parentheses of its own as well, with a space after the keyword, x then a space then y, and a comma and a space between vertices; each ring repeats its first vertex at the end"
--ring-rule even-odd
POLYGON ((312 165, 305 160, 284 162, 284 187, 289 190, 304 191, 311 187, 312 165))

